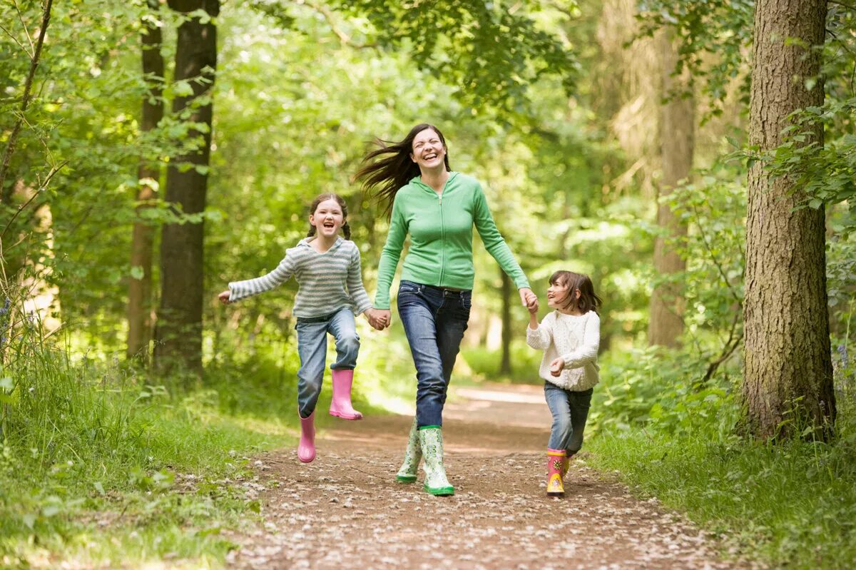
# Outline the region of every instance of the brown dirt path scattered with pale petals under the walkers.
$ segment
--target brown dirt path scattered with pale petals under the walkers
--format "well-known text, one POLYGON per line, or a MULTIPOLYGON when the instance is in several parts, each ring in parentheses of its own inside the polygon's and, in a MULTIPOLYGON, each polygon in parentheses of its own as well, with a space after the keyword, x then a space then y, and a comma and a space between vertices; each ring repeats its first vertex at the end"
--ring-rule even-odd
POLYGON ((550 413, 532 386, 458 389, 443 413, 455 496, 395 483, 412 417, 336 420, 318 459, 260 458, 265 529, 232 537, 236 568, 735 568, 702 533, 621 484, 571 467, 545 496, 550 413))

